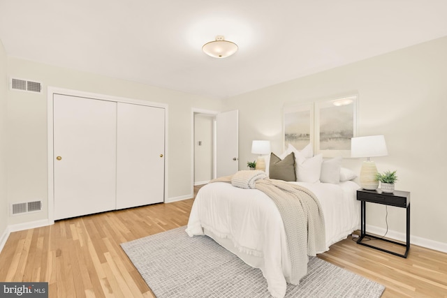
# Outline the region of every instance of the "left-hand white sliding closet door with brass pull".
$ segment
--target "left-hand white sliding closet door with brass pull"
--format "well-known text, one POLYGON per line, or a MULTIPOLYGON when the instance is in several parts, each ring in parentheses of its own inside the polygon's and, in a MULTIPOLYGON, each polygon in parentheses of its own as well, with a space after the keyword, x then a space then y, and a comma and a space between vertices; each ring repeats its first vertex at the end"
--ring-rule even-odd
POLYGON ((54 94, 54 219, 115 209, 117 103, 54 94))

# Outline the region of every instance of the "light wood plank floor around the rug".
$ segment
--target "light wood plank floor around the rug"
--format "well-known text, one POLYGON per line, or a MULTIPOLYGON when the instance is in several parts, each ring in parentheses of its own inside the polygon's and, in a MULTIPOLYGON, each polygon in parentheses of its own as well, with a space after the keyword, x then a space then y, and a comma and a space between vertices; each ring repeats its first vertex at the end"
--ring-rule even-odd
MULTIPOLYGON (((47 281, 50 297, 153 297, 119 244, 186 225, 193 199, 82 216, 10 234, 0 281, 47 281)), ((382 297, 447 297, 447 254, 400 258, 349 237, 319 258, 386 286, 382 297)))

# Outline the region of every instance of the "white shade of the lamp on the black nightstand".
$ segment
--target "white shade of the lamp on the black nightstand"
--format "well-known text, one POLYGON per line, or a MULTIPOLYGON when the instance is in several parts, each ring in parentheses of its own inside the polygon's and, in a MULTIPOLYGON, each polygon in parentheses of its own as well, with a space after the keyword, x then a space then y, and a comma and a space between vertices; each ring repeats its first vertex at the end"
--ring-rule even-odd
POLYGON ((370 135, 351 138, 351 157, 387 156, 385 137, 370 135))

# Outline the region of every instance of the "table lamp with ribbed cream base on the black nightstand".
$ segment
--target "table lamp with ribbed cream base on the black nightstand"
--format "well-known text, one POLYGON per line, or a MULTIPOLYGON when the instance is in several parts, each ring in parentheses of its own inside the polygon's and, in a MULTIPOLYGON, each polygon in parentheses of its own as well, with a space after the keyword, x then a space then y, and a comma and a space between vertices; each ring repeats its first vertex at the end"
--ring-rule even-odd
POLYGON ((360 186, 363 189, 374 191, 379 187, 376 180, 377 167, 369 158, 375 156, 387 156, 385 137, 383 135, 370 135, 368 137, 351 138, 351 157, 366 157, 360 170, 360 186))

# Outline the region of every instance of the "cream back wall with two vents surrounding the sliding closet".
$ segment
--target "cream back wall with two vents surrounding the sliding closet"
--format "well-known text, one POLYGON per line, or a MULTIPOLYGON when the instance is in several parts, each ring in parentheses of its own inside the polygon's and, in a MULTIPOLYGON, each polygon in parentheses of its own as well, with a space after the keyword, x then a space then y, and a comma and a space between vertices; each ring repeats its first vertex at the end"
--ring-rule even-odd
MULTIPOLYGON (((8 91, 8 200, 47 199, 47 87, 59 87, 168 104, 168 198, 191 198, 191 109, 219 110, 217 100, 149 87, 8 57, 8 75, 43 83, 42 94, 8 91)), ((15 225, 47 218, 43 212, 11 216, 15 225)), ((3 216, 2 216, 3 218, 3 216)))

